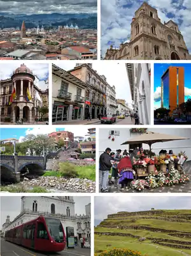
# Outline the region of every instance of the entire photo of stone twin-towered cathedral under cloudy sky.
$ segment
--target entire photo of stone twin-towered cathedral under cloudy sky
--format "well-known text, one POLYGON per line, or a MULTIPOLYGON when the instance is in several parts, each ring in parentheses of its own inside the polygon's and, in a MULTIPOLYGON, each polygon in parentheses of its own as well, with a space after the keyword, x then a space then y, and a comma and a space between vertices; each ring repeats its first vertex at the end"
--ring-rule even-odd
POLYGON ((188 1, 102 0, 101 58, 190 59, 189 13, 188 1))

